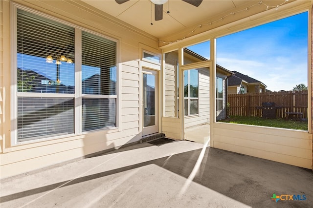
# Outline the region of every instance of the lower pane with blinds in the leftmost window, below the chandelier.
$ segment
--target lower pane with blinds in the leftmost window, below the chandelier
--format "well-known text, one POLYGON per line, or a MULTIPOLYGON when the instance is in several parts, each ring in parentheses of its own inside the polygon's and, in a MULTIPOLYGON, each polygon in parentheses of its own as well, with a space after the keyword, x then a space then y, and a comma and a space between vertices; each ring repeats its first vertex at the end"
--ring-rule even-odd
POLYGON ((18 141, 74 133, 73 98, 18 98, 18 141))

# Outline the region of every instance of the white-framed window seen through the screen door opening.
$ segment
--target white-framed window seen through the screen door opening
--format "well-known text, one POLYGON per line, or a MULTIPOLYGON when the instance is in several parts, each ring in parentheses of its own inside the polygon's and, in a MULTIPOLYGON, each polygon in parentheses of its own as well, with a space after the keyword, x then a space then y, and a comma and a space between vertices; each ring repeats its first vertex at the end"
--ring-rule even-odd
POLYGON ((198 114, 199 74, 197 69, 184 71, 185 116, 198 114))

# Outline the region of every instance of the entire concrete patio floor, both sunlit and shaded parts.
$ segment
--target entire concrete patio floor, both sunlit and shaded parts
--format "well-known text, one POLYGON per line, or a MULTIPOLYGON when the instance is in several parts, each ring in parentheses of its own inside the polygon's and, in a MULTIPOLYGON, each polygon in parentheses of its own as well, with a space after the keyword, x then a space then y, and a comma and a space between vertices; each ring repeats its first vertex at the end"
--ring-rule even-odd
POLYGON ((2 179, 0 207, 312 207, 312 170, 202 147, 135 144, 2 179), (276 203, 273 194, 306 200, 276 203))

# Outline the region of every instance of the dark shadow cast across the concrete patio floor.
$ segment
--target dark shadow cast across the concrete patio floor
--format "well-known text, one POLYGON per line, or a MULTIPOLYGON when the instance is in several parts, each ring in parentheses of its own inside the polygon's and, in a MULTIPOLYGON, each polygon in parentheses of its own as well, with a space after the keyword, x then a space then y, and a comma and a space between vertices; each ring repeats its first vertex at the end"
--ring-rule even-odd
MULTIPOLYGON (((145 146, 151 146, 151 144, 142 144, 141 148, 145 146)), ((127 151, 132 148, 137 147, 128 146, 114 150, 112 153, 127 151)), ((152 164, 187 179, 193 171, 200 154, 201 149, 197 149, 174 154, 170 157, 162 157, 90 174, 73 180, 2 196, 0 202, 4 203, 152 164)), ((277 207, 278 205, 284 207, 310 207, 313 204, 312 170, 210 147, 205 149, 204 157, 197 174, 193 178, 193 182, 253 207, 277 207), (281 201, 279 204, 270 199, 273 194, 305 195, 306 200, 281 201)))

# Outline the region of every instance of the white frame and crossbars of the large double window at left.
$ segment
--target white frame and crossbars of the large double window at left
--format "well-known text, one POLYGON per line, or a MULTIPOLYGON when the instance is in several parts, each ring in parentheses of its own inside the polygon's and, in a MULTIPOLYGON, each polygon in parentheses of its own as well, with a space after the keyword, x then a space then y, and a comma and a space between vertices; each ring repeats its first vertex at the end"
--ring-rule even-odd
POLYGON ((11 113, 10 113, 10 118, 11 118, 11 139, 10 143, 11 146, 17 146, 17 145, 22 145, 22 144, 29 144, 29 143, 38 143, 42 141, 48 141, 48 140, 55 140, 55 139, 61 139, 61 138, 68 138, 71 136, 77 136, 81 134, 86 134, 87 132, 94 132, 94 131, 106 131, 106 132, 117 132, 120 131, 120 88, 121 88, 121 83, 119 81, 120 78, 120 72, 119 72, 119 67, 120 67, 120 39, 115 39, 112 37, 109 37, 105 34, 98 33, 92 30, 89 30, 87 28, 81 27, 79 25, 70 23, 68 21, 63 21, 59 18, 53 17, 51 15, 45 14, 43 12, 39 12, 35 9, 28 8, 26 6, 20 5, 15 2, 11 2, 11 7, 10 7, 10 32, 11 32, 11 78, 10 78, 10 92, 11 92, 11 113), (17 11, 18 9, 21 9, 23 11, 32 13, 34 15, 41 16, 43 18, 49 19, 51 21, 56 21, 58 23, 67 25, 69 27, 74 28, 74 50, 75 50, 75 65, 74 65, 74 89, 75 93, 74 94, 61 94, 61 93, 36 93, 36 92, 18 92, 17 91, 17 11), (87 95, 87 94, 82 94, 82 47, 81 47, 81 40, 82 40, 82 31, 88 32, 90 34, 99 36, 101 38, 116 42, 116 86, 115 86, 115 95, 98 95, 98 97, 101 98, 115 98, 115 109, 116 109, 116 123, 114 127, 108 127, 108 128, 99 128, 99 129, 94 129, 90 131, 83 132, 82 131, 82 99, 83 98, 93 98, 94 95, 87 95), (19 97, 46 97, 46 98, 72 98, 74 100, 74 105, 73 105, 73 110, 74 110, 74 130, 73 133, 70 134, 63 134, 63 135, 58 135, 58 136, 50 136, 47 135, 45 138, 40 138, 40 139, 29 139, 27 141, 18 141, 18 98, 19 97))

